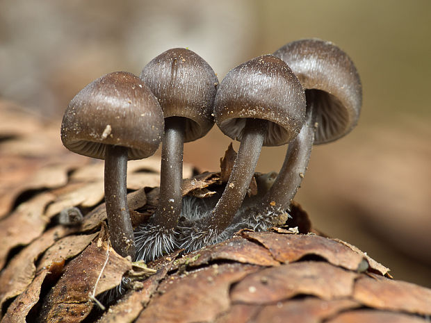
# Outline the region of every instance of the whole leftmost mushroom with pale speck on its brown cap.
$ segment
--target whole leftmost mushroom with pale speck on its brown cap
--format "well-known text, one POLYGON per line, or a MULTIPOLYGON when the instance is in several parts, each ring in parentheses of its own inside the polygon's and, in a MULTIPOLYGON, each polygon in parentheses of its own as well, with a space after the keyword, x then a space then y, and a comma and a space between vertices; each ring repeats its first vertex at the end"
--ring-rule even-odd
POLYGON ((154 154, 163 134, 157 99, 137 76, 113 72, 92 81, 70 101, 61 125, 64 146, 105 160, 105 201, 113 249, 135 256, 127 206, 127 160, 154 154))

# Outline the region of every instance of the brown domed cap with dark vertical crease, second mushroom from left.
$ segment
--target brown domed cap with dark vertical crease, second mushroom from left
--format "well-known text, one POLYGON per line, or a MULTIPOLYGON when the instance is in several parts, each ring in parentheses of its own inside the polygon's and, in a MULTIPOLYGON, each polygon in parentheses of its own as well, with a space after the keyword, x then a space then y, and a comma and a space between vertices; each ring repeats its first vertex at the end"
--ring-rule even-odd
POLYGON ((185 118, 185 142, 202 138, 211 130, 218 78, 197 53, 169 49, 149 62, 140 78, 158 99, 165 118, 185 118))

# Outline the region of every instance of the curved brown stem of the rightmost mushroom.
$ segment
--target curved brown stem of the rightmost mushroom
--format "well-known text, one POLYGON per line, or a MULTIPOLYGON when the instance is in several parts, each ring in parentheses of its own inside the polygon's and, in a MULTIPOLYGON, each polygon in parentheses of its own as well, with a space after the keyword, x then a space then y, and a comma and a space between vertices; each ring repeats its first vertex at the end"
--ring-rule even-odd
POLYGON ((311 93, 311 91, 305 92, 307 97, 305 123, 296 138, 289 142, 282 169, 273 186, 262 199, 263 210, 259 211, 262 215, 271 215, 273 211, 285 211, 291 205, 304 178, 316 133, 314 108, 310 103, 312 101, 309 100, 311 93))

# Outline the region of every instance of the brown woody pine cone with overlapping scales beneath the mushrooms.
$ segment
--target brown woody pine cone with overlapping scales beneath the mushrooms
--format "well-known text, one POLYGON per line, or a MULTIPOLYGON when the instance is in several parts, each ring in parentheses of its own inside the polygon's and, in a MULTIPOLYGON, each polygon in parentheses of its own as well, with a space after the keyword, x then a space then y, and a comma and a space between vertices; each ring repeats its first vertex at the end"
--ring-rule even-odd
MULTIPOLYGON (((0 156, 10 165, 0 184, 2 323, 429 322, 430 289, 391 279, 386 267, 346 242, 307 234, 316 231, 298 205, 296 223, 288 225, 300 234, 241 231, 192 254, 132 264, 108 248, 102 163, 89 165, 61 149, 49 126, 31 125, 33 133, 18 126, 1 133, 0 156), (34 133, 54 144, 44 151, 26 145, 34 133), (26 149, 8 151, 10 142, 26 149), (72 206, 83 222, 56 224, 72 206), (124 274, 132 279, 129 292, 101 310, 91 296, 114 288, 124 274)), ((158 189, 149 187, 157 185, 158 163, 129 166, 134 225, 156 208, 158 189)), ((218 173, 201 174, 184 180, 183 194, 205 197, 220 183, 218 173)))

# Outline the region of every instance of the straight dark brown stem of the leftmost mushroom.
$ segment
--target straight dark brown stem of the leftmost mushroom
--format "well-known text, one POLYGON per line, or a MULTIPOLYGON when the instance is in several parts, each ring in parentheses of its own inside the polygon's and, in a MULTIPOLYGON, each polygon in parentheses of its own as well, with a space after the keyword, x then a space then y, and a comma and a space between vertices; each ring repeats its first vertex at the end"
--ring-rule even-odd
POLYGON ((127 205, 127 148, 106 145, 105 202, 112 247, 120 256, 135 258, 135 241, 127 205))

